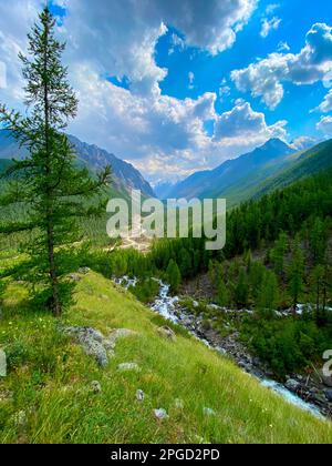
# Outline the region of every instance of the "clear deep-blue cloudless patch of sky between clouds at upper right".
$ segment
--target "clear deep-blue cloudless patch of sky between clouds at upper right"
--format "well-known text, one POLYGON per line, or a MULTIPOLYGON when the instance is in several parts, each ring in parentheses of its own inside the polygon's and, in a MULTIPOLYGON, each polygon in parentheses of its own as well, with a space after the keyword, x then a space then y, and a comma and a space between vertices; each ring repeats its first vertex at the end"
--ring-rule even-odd
POLYGON ((321 138, 322 134, 315 128, 317 114, 310 110, 317 108, 326 94, 326 89, 321 82, 311 85, 294 85, 287 83, 286 98, 277 109, 270 111, 261 100, 252 99, 250 92, 239 92, 231 80, 230 73, 235 69, 246 68, 257 58, 264 58, 269 53, 276 52, 278 47, 286 42, 290 51, 298 53, 303 47, 307 32, 312 24, 325 22, 332 24, 332 3, 326 0, 283 0, 276 2, 273 13, 266 14, 271 1, 260 1, 260 7, 252 16, 249 24, 238 34, 236 44, 218 54, 210 57, 207 52, 197 49, 175 48, 170 55, 168 50, 172 47, 172 34, 160 39, 156 48, 156 61, 162 68, 168 69, 168 75, 162 82, 162 91, 165 94, 178 99, 186 97, 197 98, 204 92, 219 93, 220 83, 225 79, 224 87, 229 87, 230 91, 221 99, 218 99, 216 109, 218 112, 232 109, 236 99, 245 99, 255 105, 255 110, 264 112, 267 122, 272 124, 277 120, 287 119, 290 139, 295 139, 308 134, 321 138), (299 14, 300 12, 300 14, 299 14), (263 18, 278 17, 281 23, 278 30, 272 30, 267 38, 261 38, 263 18), (195 74, 194 88, 188 89, 188 73, 195 74))

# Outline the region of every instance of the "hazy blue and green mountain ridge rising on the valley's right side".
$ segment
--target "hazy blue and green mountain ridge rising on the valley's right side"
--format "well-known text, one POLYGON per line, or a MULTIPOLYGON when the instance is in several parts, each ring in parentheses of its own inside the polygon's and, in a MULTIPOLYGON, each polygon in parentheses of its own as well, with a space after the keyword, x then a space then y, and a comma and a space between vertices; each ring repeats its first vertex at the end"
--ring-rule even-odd
MULTIPOLYGON (((271 139, 252 152, 228 160, 215 170, 196 172, 164 190, 167 197, 226 197, 228 206, 258 197, 332 168, 332 141, 297 152, 279 139, 271 139)), ((158 190, 157 190, 158 192, 158 190)))

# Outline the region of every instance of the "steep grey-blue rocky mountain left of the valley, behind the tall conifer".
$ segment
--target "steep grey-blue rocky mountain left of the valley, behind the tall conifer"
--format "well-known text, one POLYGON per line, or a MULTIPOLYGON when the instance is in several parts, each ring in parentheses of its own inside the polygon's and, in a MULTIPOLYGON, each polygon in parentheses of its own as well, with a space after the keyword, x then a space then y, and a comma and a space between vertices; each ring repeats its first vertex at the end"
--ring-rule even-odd
MULTIPOLYGON (((105 165, 111 165, 113 171, 114 194, 127 195, 133 189, 141 190, 145 196, 154 196, 149 183, 132 164, 124 162, 114 154, 97 145, 91 145, 69 135, 80 163, 87 165, 92 171, 98 171, 105 165)), ((8 165, 11 159, 23 159, 27 150, 20 148, 13 136, 6 130, 0 131, 0 166, 8 165)))

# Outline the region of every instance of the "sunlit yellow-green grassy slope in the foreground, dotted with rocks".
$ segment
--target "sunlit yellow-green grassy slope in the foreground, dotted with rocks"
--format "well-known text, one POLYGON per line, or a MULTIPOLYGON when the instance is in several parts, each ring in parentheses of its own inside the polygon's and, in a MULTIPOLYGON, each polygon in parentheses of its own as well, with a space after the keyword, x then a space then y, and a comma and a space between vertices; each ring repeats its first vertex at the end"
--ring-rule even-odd
POLYGON ((63 320, 105 334, 117 327, 139 333, 117 343, 106 369, 59 335, 52 317, 27 306, 24 285, 10 284, 0 346, 12 367, 0 393, 12 391, 13 399, 0 401, 0 443, 332 443, 331 424, 286 404, 184 331, 175 343, 163 340, 160 317, 93 272, 77 284, 76 304, 63 320), (124 362, 142 372, 118 373, 124 362), (98 395, 90 392, 94 379, 103 387, 98 395), (154 418, 158 407, 168 421, 154 418), (217 416, 205 417, 204 407, 217 416), (15 427, 13 415, 22 409, 28 424, 15 427))

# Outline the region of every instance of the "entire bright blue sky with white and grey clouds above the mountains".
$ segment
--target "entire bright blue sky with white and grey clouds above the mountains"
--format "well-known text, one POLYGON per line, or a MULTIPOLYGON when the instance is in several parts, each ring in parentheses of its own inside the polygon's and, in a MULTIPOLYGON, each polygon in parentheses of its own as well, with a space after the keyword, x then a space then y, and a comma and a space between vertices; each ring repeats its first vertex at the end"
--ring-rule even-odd
MULTIPOLYGON (((15 55, 42 4, 0 0, 0 100, 12 107, 23 84, 15 55)), ((270 138, 302 149, 332 136, 326 0, 53 0, 51 8, 80 99, 69 130, 154 183, 270 138)))

